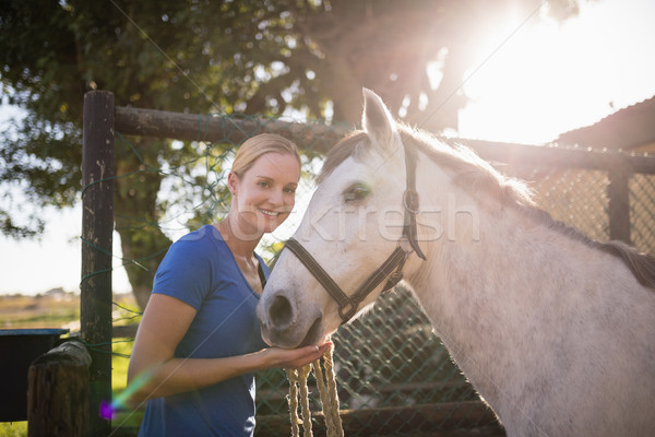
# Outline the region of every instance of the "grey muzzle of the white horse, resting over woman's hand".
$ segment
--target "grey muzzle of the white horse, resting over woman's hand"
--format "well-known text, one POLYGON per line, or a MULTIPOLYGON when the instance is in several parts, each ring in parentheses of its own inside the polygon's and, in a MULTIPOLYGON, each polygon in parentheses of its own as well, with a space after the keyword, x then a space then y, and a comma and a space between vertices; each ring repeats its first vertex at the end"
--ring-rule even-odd
POLYGON ((257 307, 262 339, 271 346, 296 349, 320 344, 325 336, 323 314, 315 304, 303 305, 285 291, 264 293, 257 307))

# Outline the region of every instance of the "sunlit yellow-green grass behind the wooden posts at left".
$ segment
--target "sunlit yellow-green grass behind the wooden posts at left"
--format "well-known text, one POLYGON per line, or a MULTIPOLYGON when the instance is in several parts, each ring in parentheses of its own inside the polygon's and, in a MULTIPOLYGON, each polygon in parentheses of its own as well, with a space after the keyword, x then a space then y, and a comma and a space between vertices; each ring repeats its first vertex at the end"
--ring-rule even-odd
MULTIPOLYGON (((114 324, 138 322, 138 307, 132 296, 115 296, 114 324), (121 308, 122 307, 122 308, 121 308)), ((73 293, 56 293, 37 296, 0 296, 0 328, 68 328, 80 329, 80 296, 73 293)), ((111 357, 111 390, 114 398, 126 389, 132 339, 114 339, 111 357)), ((136 427, 142 411, 119 411, 111 421, 114 426, 136 427)), ((27 436, 27 422, 0 422, 0 437, 27 436)))

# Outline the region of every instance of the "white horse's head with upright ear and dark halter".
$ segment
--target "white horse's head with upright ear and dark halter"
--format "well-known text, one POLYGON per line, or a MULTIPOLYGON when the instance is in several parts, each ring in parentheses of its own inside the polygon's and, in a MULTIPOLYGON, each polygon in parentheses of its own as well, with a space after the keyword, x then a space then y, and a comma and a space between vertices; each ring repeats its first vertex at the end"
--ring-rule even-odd
POLYGON ((417 198, 406 194, 413 168, 398 127, 378 95, 365 88, 364 97, 364 130, 329 153, 308 210, 262 294, 258 317, 272 345, 322 342, 365 311, 389 287, 388 276, 395 273, 397 282, 397 273, 410 269, 408 255, 422 257, 407 227, 407 210, 417 206, 407 203, 417 198))

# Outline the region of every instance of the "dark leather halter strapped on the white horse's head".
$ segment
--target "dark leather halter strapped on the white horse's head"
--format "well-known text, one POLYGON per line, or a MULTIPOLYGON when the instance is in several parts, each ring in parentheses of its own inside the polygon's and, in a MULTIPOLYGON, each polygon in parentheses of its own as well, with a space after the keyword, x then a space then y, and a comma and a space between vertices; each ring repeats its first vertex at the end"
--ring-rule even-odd
POLYGON ((418 192, 416 192, 416 154, 407 147, 405 149, 405 168, 406 168, 406 189, 403 194, 403 206, 405 208, 403 235, 398 239, 397 247, 386 258, 373 273, 355 293, 348 297, 343 290, 330 277, 327 272, 309 255, 309 252, 294 238, 289 238, 285 248, 289 249, 305 264, 310 273, 323 285, 325 291, 338 304, 338 315, 342 318, 342 324, 350 320, 359 308, 359 304, 388 277, 386 284, 382 288, 385 292, 394 287, 403 279, 403 267, 407 256, 413 251, 422 260, 426 256, 420 250, 416 240, 416 214, 418 214, 418 192), (407 244, 409 247, 407 247, 407 244), (395 269, 395 271, 394 271, 395 269))

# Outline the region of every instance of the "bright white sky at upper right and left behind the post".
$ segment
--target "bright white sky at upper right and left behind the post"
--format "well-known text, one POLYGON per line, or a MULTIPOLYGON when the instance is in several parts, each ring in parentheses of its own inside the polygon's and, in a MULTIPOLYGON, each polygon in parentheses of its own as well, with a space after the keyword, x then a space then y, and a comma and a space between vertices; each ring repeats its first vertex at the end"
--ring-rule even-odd
MULTIPOLYGON (((654 96, 653 17, 653 0, 596 0, 564 24, 527 26, 525 16, 509 19, 480 42, 479 61, 463 84, 473 101, 460 115, 458 135, 544 144, 654 96)), ((0 123, 11 116, 20 111, 0 106, 0 123)), ((79 293, 81 208, 44 216, 39 241, 0 236, 0 295, 56 287, 79 293)), ((293 228, 286 229, 289 236, 293 228)), ((114 246, 119 257, 117 234, 114 246)), ((112 281, 115 292, 130 291, 122 268, 112 281)))

